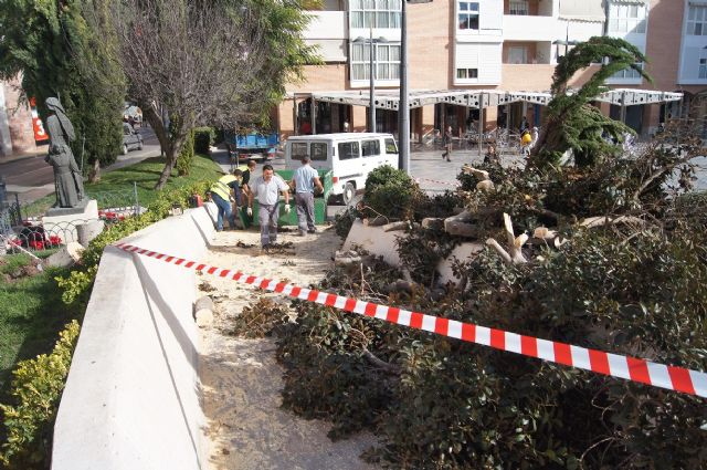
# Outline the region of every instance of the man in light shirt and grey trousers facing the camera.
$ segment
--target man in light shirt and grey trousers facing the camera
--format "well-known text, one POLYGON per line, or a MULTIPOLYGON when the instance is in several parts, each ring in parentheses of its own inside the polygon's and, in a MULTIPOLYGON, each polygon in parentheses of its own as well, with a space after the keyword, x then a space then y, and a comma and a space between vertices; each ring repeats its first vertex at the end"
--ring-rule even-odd
POLYGON ((261 246, 266 252, 277 241, 281 192, 285 198, 285 213, 289 213, 289 186, 275 175, 272 165, 263 165, 263 176, 255 178, 250 185, 247 215, 253 216, 253 200, 257 197, 261 246))

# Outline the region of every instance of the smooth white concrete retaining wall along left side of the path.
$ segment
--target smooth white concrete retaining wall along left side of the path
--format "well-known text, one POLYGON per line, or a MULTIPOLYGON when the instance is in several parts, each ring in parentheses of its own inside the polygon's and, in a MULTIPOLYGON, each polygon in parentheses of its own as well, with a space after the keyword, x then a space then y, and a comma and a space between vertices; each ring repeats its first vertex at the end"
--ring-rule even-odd
MULTIPOLYGON (((199 260, 204 208, 124 242, 199 260)), ((205 468, 196 273, 106 248, 54 426, 53 470, 205 468)))

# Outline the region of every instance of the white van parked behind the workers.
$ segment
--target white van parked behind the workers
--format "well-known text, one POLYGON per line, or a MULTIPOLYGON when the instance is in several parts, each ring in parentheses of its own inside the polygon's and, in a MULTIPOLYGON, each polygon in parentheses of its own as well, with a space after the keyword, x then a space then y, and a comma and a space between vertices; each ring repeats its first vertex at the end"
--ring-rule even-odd
POLYGON ((312 167, 333 171, 331 195, 349 205, 368 174, 382 165, 398 168, 398 146, 391 134, 344 133, 292 136, 285 147, 286 168, 297 169, 309 155, 312 167))

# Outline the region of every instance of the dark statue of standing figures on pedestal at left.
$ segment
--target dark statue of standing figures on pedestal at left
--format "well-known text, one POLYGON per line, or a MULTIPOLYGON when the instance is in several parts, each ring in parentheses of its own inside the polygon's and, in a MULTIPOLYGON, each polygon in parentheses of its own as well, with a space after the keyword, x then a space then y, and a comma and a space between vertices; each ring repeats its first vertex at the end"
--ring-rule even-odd
POLYGON ((74 126, 59 98, 46 98, 46 107, 52 113, 46 118, 49 132, 49 155, 44 159, 54 167, 54 187, 56 202, 54 207, 76 207, 84 198, 83 175, 74 159, 68 144, 76 138, 74 126))

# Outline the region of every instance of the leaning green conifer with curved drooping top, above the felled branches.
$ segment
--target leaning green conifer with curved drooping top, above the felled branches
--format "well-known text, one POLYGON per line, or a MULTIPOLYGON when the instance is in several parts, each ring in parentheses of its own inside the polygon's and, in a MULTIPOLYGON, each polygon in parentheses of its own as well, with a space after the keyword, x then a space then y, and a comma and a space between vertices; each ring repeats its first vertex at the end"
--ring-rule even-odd
POLYGON ((616 147, 608 144, 603 134, 618 140, 633 130, 604 116, 590 102, 606 87, 604 82, 624 69, 633 69, 647 80, 651 77, 637 64, 646 58, 633 44, 619 39, 595 36, 573 48, 560 59, 552 76, 552 100, 548 103, 542 133, 532 150, 530 164, 537 167, 557 165, 562 154, 572 149, 578 166, 591 166, 602 157, 613 155, 616 147), (601 67, 577 92, 569 92, 569 81, 574 73, 591 64, 601 67))

